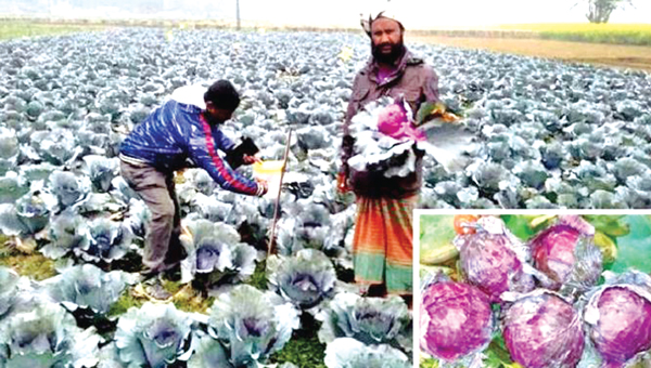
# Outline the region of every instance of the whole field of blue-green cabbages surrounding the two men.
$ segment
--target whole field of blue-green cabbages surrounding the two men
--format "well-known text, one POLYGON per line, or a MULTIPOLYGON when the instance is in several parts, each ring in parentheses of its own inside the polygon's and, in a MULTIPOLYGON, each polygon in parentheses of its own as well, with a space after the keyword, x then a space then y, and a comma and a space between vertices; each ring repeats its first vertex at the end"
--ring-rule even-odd
MULTIPOLYGON (((651 203, 649 75, 412 49, 476 134, 463 170, 425 159, 422 207, 651 203)), ((353 34, 129 28, 2 41, 0 263, 14 271, 0 271, 0 367, 409 366, 410 312, 350 282, 354 199, 334 187, 368 55, 353 34), (280 159, 293 130, 278 254, 266 255, 272 198, 178 173, 183 284, 153 303, 135 277, 150 213, 118 174, 118 147, 174 89, 221 78, 243 96, 224 127, 234 141, 280 159)))

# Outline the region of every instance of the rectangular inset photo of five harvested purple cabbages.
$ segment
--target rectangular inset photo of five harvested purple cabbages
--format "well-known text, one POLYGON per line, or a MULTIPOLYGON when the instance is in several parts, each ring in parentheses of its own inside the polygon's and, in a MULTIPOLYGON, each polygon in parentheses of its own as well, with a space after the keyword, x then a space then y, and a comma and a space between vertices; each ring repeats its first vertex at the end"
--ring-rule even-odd
POLYGON ((414 215, 414 366, 651 365, 651 215, 447 213, 414 215))

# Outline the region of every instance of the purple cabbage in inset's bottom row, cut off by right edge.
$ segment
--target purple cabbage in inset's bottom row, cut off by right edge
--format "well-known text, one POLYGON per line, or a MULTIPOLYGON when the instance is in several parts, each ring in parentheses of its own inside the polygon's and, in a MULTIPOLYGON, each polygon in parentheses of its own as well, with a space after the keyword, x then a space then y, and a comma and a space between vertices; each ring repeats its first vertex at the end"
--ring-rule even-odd
POLYGON ((585 308, 587 333, 609 368, 651 349, 651 277, 628 272, 595 292, 585 308))

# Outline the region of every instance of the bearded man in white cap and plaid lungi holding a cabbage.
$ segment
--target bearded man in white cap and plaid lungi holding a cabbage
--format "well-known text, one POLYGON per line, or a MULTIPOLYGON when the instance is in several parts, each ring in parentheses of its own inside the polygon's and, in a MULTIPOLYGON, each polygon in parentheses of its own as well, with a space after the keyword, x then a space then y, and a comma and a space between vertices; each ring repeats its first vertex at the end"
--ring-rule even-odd
POLYGON ((357 221, 353 240, 355 279, 370 286, 368 294, 399 294, 408 303, 412 295, 412 211, 422 183, 422 153, 417 170, 406 178, 356 172, 347 159, 354 155, 350 119, 363 105, 381 96, 404 96, 411 110, 423 102, 438 100, 438 78, 421 58, 403 43, 403 24, 386 12, 362 21, 371 38, 371 58, 353 83, 344 122, 340 188, 348 185, 357 197, 357 221))

